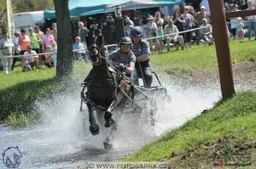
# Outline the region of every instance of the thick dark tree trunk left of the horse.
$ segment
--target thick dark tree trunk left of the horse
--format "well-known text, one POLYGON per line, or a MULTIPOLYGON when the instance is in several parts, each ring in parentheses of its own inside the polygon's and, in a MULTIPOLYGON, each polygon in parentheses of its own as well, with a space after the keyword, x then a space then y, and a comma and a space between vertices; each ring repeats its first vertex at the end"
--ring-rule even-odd
POLYGON ((73 71, 72 32, 69 14, 69 0, 53 0, 58 32, 58 53, 56 76, 63 78, 73 71))

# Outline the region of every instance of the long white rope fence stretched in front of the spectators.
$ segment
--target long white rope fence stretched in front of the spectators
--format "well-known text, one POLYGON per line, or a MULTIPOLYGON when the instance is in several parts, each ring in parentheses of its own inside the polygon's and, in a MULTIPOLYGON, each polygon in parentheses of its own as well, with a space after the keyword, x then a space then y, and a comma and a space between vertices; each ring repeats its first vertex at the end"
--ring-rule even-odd
MULTIPOLYGON (((203 28, 207 28, 209 25, 206 25, 206 26, 202 26, 202 27, 199 27, 199 28, 193 28, 193 29, 189 29, 187 31, 179 31, 177 33, 173 33, 173 34, 165 34, 165 35, 162 35, 162 36, 154 36, 154 37, 151 37, 151 38, 147 38, 145 40, 151 40, 151 39, 160 39, 162 37, 166 37, 166 36, 172 36, 172 35, 176 35, 176 34, 184 34, 184 33, 187 33, 187 32, 190 32, 190 31, 197 31, 197 30, 200 30, 200 29, 203 29, 203 28)), ((108 44, 108 45, 105 45, 104 47, 108 49, 108 47, 116 47, 118 44, 108 44)), ((80 51, 84 51, 86 52, 86 50, 72 50, 72 52, 80 52, 80 51)), ((56 54, 57 52, 45 52, 45 53, 37 53, 37 55, 54 55, 56 54)), ((35 54, 29 54, 29 55, 13 55, 13 56, 2 56, 0 58, 28 58, 28 57, 33 57, 33 56, 37 56, 35 54)))

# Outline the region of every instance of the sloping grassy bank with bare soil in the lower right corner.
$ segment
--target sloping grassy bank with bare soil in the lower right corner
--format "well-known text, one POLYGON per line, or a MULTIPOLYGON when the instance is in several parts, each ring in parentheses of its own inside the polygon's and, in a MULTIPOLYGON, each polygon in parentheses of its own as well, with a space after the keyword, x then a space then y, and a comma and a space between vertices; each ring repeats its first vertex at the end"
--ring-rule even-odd
POLYGON ((247 154, 255 168, 255 128, 256 93, 238 93, 124 160, 165 161, 174 168, 213 168, 214 162, 224 162, 217 157, 247 154))

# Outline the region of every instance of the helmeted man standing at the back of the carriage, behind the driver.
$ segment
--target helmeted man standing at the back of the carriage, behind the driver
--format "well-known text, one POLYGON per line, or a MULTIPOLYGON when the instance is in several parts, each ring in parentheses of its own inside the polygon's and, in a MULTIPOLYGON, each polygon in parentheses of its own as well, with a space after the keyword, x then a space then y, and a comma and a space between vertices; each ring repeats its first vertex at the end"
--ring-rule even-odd
POLYGON ((132 52, 135 54, 136 57, 136 72, 133 76, 136 76, 137 73, 137 76, 143 79, 144 86, 151 87, 153 77, 151 67, 149 66, 149 44, 146 40, 141 39, 142 29, 140 27, 133 27, 131 35, 133 43, 132 52))

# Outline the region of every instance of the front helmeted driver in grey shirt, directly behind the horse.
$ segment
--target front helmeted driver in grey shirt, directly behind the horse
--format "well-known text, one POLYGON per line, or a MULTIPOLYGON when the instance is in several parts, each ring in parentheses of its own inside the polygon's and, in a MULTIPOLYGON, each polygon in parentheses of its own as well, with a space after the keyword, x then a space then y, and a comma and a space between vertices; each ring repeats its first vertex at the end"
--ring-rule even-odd
POLYGON ((131 50, 132 40, 124 36, 118 44, 118 49, 111 52, 108 59, 113 63, 118 63, 120 71, 124 71, 128 76, 135 70, 136 58, 131 50))

